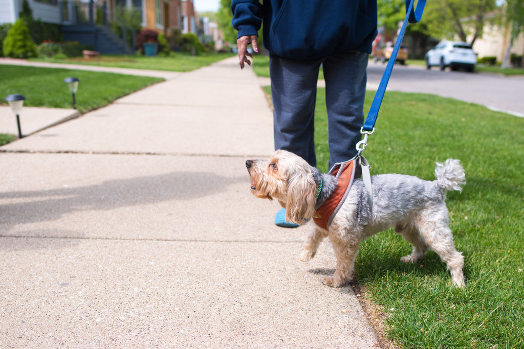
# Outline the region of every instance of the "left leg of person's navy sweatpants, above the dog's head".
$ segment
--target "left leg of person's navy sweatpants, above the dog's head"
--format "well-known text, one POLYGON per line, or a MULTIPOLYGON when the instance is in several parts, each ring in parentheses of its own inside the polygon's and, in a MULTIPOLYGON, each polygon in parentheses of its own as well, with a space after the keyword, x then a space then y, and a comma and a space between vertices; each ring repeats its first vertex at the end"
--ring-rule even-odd
POLYGON ((320 60, 269 61, 275 149, 285 149, 316 166, 314 113, 320 60))

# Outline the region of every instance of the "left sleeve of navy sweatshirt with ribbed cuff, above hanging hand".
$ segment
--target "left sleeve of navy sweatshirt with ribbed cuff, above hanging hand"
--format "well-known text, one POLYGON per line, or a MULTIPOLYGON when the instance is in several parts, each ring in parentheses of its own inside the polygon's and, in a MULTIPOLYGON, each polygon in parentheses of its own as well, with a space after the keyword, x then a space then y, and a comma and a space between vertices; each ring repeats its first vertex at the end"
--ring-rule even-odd
POLYGON ((258 35, 264 18, 264 7, 258 0, 233 0, 231 2, 233 20, 231 24, 238 31, 238 37, 258 35))

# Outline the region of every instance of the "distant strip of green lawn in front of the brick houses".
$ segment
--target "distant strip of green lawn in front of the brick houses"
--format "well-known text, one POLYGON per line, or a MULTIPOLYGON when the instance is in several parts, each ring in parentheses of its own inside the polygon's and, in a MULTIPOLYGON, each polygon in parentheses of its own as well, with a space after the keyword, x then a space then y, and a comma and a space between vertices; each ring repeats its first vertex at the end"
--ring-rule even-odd
POLYGON ((174 57, 146 57, 136 55, 101 55, 100 60, 85 60, 84 58, 64 59, 31 59, 31 61, 43 61, 51 63, 72 63, 98 66, 110 66, 119 68, 166 70, 175 72, 186 72, 199 69, 211 63, 233 57, 232 53, 209 53, 192 56, 186 53, 176 53, 174 57))

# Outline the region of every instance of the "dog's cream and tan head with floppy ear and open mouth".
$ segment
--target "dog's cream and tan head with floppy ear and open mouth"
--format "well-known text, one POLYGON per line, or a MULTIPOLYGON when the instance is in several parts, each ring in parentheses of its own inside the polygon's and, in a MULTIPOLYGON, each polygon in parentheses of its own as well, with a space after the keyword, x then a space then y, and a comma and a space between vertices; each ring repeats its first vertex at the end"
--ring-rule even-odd
POLYGON ((252 193, 277 199, 286 209, 286 220, 303 224, 315 211, 316 184, 312 167, 300 156, 277 150, 269 160, 247 160, 252 193))

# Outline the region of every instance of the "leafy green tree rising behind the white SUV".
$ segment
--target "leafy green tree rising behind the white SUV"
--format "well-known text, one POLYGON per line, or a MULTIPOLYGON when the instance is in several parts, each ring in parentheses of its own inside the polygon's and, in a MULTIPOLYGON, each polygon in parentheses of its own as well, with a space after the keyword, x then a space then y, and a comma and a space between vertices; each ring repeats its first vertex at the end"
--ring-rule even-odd
POLYGON ((442 0, 426 3, 421 22, 426 24, 431 36, 453 39, 457 35, 470 44, 482 37, 488 15, 497 8, 496 0, 442 0))

